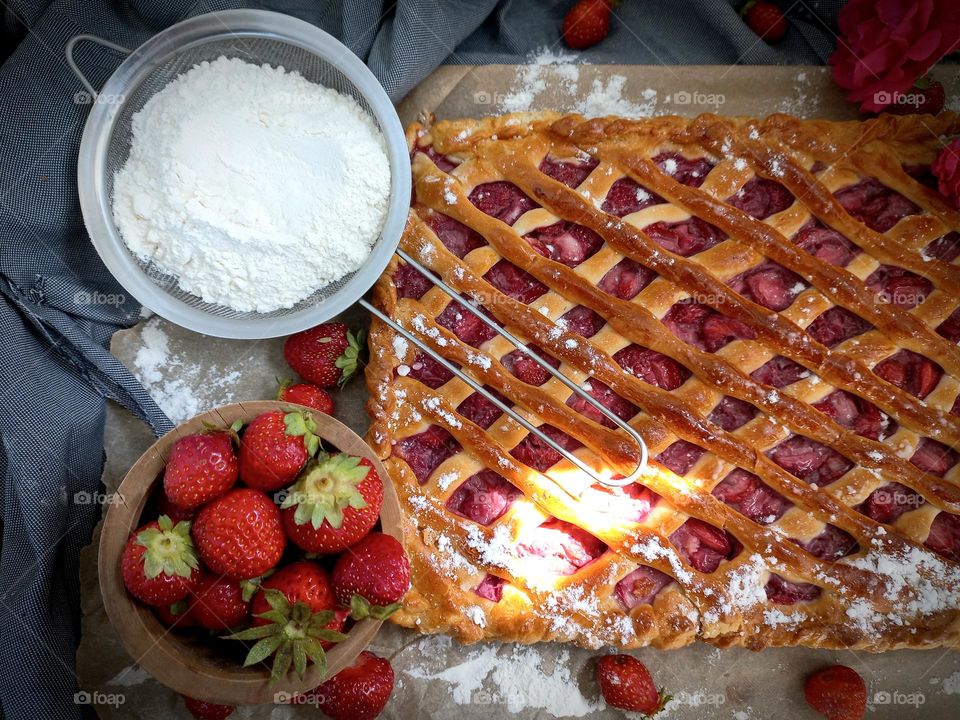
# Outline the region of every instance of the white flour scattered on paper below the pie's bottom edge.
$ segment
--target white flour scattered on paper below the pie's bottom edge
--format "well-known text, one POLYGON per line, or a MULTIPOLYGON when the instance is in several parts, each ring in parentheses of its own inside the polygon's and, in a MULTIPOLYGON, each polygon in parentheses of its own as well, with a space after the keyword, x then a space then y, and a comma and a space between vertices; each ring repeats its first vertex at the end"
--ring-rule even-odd
MULTIPOLYGON (((430 653, 421 653, 429 656, 430 653)), ((424 667, 406 670, 411 677, 448 683, 453 701, 466 705, 480 692, 490 701, 506 706, 509 713, 543 710, 553 717, 583 717, 597 712, 602 702, 587 700, 577 687, 570 668, 570 653, 561 650, 552 667, 533 647, 489 645, 473 650, 458 665, 430 671, 424 667), (504 654, 498 650, 503 647, 504 654), (484 681, 489 690, 484 690, 484 681)))

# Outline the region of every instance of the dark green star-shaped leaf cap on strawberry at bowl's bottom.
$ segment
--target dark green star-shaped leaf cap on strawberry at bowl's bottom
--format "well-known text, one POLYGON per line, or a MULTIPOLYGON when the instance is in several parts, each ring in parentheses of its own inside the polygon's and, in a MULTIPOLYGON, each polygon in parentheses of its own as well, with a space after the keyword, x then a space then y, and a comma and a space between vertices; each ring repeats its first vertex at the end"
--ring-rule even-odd
POLYGON ((257 615, 268 621, 246 630, 224 636, 227 640, 256 640, 243 661, 244 667, 256 665, 273 656, 270 683, 286 677, 291 666, 298 677, 303 677, 310 661, 320 669, 321 676, 327 673, 327 656, 322 642, 342 642, 347 636, 327 625, 335 615, 329 610, 311 612, 310 606, 298 602, 291 606, 286 595, 276 589, 264 590, 270 610, 257 615))

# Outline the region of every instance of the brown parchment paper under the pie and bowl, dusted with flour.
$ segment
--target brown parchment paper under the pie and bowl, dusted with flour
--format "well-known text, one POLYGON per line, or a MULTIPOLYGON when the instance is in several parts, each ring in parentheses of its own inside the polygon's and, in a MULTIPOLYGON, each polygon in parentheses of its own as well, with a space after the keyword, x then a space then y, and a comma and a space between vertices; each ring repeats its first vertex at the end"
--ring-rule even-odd
MULTIPOLYGON (((940 72, 939 77, 947 86, 947 96, 957 97, 960 80, 956 74, 940 72)), ((614 95, 620 88, 624 99, 657 114, 762 116, 789 112, 833 119, 856 117, 855 109, 842 100, 823 68, 608 65, 581 66, 575 88, 569 75, 550 68, 530 74, 514 66, 441 67, 400 105, 401 118, 407 124, 422 110, 431 110, 439 118, 496 114, 503 105, 517 103, 525 89, 524 79, 533 90, 539 90, 529 93, 532 109, 576 109, 584 98, 609 89, 613 81, 617 85, 614 95), (622 87, 617 76, 623 77, 622 87)), ((366 323, 364 316, 354 310, 346 314, 346 320, 366 323)), ((167 352, 161 354, 165 360, 153 368, 148 379, 168 401, 171 397, 182 400, 186 394, 202 411, 236 400, 270 398, 276 390, 275 377, 289 375, 281 340, 217 340, 160 318, 118 333, 112 349, 135 369, 140 353, 139 364, 149 368, 151 358, 156 360, 150 348, 156 350, 160 333, 168 344, 167 352)), ((367 426, 365 395, 358 379, 336 398, 337 416, 361 434, 367 426)), ((151 442, 149 431, 138 421, 122 409, 109 409, 103 478, 108 492, 151 442)), ((81 573, 83 641, 77 656, 81 686, 91 696, 102 694, 94 699, 108 701, 97 704, 105 719, 186 717, 179 698, 126 654, 106 619, 97 584, 98 540, 99 531, 84 553, 81 573)), ((448 638, 427 638, 393 626, 385 627, 371 649, 390 657, 396 670, 396 688, 385 718, 623 717, 619 711, 603 709, 598 701, 591 666, 591 658, 598 654, 594 651, 551 644, 530 650, 514 645, 462 646, 448 638), (498 662, 505 668, 499 675, 494 671, 498 662), (504 676, 513 676, 513 682, 504 676)), ((697 644, 674 651, 644 649, 636 654, 657 682, 674 695, 660 716, 671 720, 815 718, 803 701, 803 679, 812 670, 832 663, 850 665, 863 675, 869 685, 869 718, 945 720, 958 717, 960 711, 960 654, 954 652, 869 655, 789 648, 751 653, 697 644)), ((242 708, 235 716, 280 720, 318 715, 313 708, 260 706, 242 708)))

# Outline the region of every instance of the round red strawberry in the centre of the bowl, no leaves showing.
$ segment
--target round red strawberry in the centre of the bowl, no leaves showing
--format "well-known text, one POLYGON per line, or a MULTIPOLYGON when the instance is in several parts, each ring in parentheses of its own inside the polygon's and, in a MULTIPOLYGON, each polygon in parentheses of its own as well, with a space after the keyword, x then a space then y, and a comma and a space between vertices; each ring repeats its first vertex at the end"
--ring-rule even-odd
POLYGON ((200 557, 220 575, 263 575, 283 555, 287 538, 280 511, 259 490, 237 488, 205 505, 193 523, 200 557))

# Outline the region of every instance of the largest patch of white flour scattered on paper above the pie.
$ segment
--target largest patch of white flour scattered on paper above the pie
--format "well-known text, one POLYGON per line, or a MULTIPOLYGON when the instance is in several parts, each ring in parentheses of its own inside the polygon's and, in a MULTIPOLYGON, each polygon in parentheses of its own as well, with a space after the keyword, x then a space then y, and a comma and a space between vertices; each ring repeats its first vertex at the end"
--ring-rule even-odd
POLYGON ((620 115, 641 118, 654 114, 657 91, 647 88, 639 97, 625 95, 627 78, 611 75, 606 82, 595 79, 589 92, 580 92, 580 65, 576 55, 541 48, 527 58, 516 80, 502 98, 502 112, 529 112, 537 109, 537 97, 548 86, 557 90, 551 105, 563 112, 576 111, 587 117, 620 115))

